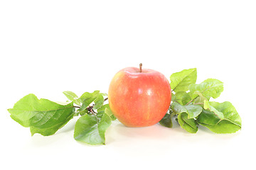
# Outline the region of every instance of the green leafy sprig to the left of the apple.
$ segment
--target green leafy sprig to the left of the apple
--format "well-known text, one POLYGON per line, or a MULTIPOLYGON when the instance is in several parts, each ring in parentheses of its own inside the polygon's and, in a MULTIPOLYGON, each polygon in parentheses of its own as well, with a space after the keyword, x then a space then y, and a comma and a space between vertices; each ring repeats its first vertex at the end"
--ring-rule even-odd
POLYGON ((74 116, 81 117, 75 123, 74 138, 90 145, 105 145, 105 132, 116 118, 110 110, 105 94, 100 91, 85 92, 78 98, 72 91, 63 94, 69 103, 59 104, 47 99, 28 94, 8 109, 11 118, 26 128, 31 135, 39 133, 43 136, 53 135, 74 116))

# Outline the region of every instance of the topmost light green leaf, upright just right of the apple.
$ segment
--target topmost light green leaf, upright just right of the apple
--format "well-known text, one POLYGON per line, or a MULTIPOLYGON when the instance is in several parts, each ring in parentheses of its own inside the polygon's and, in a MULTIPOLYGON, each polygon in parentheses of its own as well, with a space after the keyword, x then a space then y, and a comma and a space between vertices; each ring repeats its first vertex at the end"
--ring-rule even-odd
POLYGON ((188 91, 190 84, 196 83, 197 72, 195 69, 183 69, 181 72, 171 74, 171 88, 176 93, 178 91, 188 91))

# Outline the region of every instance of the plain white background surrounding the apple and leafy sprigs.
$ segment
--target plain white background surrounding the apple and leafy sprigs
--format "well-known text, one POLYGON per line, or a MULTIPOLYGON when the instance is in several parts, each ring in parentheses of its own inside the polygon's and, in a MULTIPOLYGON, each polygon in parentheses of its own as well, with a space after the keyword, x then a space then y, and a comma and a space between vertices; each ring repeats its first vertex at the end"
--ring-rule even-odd
POLYGON ((0 1, 1 169, 255 168, 255 1, 0 1), (124 67, 169 79, 196 67, 198 81, 224 82, 242 130, 193 135, 114 122, 105 146, 73 139, 75 120, 55 135, 31 137, 7 108, 26 94, 65 101, 63 91, 107 93, 124 67))

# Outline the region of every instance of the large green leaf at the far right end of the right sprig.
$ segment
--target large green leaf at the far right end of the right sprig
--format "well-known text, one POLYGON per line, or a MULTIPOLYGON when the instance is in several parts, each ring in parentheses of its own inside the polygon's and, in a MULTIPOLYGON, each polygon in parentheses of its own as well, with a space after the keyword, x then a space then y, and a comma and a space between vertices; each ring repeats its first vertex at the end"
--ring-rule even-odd
POLYGON ((228 101, 206 103, 197 122, 216 133, 233 133, 241 129, 242 121, 235 107, 228 101), (223 117, 219 116, 223 114, 223 117))

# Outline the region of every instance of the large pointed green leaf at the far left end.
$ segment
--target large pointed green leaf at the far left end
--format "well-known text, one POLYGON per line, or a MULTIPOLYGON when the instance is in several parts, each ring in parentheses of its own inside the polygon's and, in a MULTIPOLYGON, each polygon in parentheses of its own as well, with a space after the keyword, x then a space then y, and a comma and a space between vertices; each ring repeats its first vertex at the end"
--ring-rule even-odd
POLYGON ((31 128, 31 134, 53 135, 73 118, 73 102, 61 105, 47 99, 28 94, 10 108, 11 118, 24 127, 31 128))

